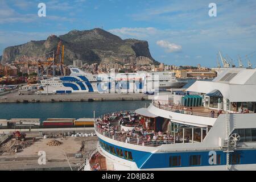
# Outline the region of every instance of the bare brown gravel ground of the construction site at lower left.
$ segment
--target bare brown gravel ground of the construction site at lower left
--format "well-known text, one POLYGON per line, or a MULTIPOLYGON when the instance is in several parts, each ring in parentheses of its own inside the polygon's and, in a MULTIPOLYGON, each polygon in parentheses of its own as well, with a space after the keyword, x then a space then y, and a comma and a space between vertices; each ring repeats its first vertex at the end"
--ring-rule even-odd
POLYGON ((52 138, 38 140, 23 148, 19 152, 12 152, 8 155, 0 156, 0 170, 22 170, 36 169, 39 170, 71 170, 76 169, 84 162, 90 151, 94 150, 97 145, 97 137, 67 137, 55 138, 63 142, 60 146, 47 146, 47 142, 52 138), (46 152, 46 164, 39 165, 39 151, 46 152), (81 153, 83 158, 75 158, 75 154, 81 153), (69 163, 68 163, 69 162, 69 163))

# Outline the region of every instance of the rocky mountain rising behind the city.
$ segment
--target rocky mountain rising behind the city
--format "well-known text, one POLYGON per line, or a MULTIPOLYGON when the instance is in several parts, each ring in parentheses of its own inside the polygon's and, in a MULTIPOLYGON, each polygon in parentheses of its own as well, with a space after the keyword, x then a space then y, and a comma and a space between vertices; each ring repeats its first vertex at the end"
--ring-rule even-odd
POLYGON ((122 40, 100 28, 93 30, 73 30, 68 34, 51 35, 47 40, 31 41, 19 46, 5 48, 2 63, 23 61, 31 57, 43 55, 56 50, 59 41, 65 45, 64 63, 72 64, 79 59, 83 63, 137 63, 159 64, 155 61, 148 49, 148 43, 143 40, 122 40))

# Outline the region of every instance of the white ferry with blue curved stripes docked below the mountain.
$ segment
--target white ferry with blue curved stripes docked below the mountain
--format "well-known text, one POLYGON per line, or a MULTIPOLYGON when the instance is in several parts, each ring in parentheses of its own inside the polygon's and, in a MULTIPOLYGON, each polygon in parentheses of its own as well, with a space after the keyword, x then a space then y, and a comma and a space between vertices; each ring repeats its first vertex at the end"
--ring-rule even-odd
POLYGON ((146 93, 161 89, 182 88, 187 82, 177 81, 173 72, 108 73, 93 75, 70 68, 71 75, 41 80, 47 93, 146 93))

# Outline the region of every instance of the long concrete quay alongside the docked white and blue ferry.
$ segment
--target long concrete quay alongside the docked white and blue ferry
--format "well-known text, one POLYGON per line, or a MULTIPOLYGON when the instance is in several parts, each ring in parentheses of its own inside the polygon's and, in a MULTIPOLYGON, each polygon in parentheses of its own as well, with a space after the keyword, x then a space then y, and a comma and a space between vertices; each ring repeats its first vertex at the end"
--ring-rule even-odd
POLYGON ((84 94, 49 94, 47 95, 18 95, 17 92, 0 96, 0 103, 27 102, 79 102, 79 101, 133 101, 150 100, 143 93, 84 93, 84 94))

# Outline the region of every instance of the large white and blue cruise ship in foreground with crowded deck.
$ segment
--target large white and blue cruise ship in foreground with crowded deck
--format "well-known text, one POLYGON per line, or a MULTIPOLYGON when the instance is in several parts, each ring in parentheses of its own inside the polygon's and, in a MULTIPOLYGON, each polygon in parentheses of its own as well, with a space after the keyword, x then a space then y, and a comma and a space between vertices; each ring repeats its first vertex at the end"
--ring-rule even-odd
POLYGON ((96 117, 85 170, 255 170, 256 71, 227 69, 185 94, 96 117))

